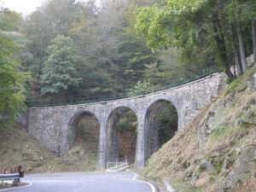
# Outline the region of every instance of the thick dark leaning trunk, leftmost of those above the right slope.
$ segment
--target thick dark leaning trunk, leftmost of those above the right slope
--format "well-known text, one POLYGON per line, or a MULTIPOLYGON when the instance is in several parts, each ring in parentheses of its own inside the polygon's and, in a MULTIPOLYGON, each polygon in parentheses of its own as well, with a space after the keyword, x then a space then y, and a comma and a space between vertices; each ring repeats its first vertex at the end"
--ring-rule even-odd
POLYGON ((227 50, 226 50, 225 41, 224 41, 224 34, 221 32, 221 26, 218 20, 218 16, 216 16, 214 19, 215 20, 213 21, 213 31, 215 32, 214 38, 217 44, 218 53, 225 67, 224 72, 228 76, 228 79, 232 81, 236 79, 236 76, 233 75, 233 73, 231 73, 230 71, 230 65, 229 65, 227 50))

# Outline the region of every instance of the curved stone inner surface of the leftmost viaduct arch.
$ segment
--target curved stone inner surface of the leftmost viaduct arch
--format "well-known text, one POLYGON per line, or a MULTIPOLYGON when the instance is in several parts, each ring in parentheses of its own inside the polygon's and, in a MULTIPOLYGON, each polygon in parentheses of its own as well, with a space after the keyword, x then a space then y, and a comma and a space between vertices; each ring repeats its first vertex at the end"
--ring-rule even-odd
POLYGON ((70 115, 69 121, 67 123, 67 150, 71 147, 72 143, 74 142, 76 136, 77 136, 77 127, 79 124, 79 121, 83 119, 85 116, 90 116, 99 124, 99 128, 101 129, 101 121, 98 119, 95 113, 93 113, 90 110, 87 109, 79 109, 75 112, 73 112, 70 115))

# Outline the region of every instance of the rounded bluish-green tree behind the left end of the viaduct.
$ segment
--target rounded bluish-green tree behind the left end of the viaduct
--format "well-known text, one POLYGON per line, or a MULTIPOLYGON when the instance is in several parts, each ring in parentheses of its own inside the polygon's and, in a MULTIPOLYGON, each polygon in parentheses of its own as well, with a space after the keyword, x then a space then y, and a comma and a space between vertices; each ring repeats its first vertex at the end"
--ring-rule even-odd
POLYGON ((79 86, 78 67, 81 61, 72 38, 57 36, 47 48, 49 57, 44 63, 41 83, 42 96, 61 96, 67 101, 68 90, 79 86))

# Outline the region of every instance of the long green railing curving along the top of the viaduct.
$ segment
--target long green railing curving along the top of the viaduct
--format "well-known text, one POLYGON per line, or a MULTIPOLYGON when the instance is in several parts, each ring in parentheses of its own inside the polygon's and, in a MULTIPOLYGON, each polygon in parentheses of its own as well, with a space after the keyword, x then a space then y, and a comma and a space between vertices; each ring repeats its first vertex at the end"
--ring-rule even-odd
POLYGON ((182 84, 188 84, 190 82, 193 82, 195 80, 206 78, 207 76, 211 75, 212 73, 218 73, 217 67, 210 67, 207 69, 204 69, 201 71, 201 73, 197 73, 194 77, 189 77, 185 79, 178 79, 175 82, 164 84, 162 87, 157 89, 148 89, 141 92, 137 92, 135 94, 119 94, 118 96, 95 96, 93 98, 91 97, 84 97, 84 98, 76 98, 68 102, 38 102, 38 101, 26 101, 26 105, 28 107, 51 107, 51 106, 67 106, 67 105, 76 105, 76 104, 85 104, 85 103, 94 103, 94 102, 108 102, 118 99, 124 99, 129 98, 133 96, 143 96, 150 93, 154 93, 160 90, 166 90, 173 87, 180 86, 182 84))

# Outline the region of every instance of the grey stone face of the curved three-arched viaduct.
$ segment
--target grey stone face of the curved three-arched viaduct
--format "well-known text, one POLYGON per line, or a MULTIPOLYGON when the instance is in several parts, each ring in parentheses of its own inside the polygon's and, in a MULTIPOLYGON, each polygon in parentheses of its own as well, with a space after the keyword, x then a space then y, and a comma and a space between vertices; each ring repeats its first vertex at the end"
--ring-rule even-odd
MULTIPOLYGON (((107 120, 109 126, 111 121, 114 122, 113 119, 115 119, 113 118, 114 115, 111 114, 113 110, 119 106, 126 106, 127 108, 134 109, 133 111, 137 114, 138 127, 135 168, 141 169, 147 160, 145 153, 146 148, 148 148, 146 134, 148 134, 147 127, 150 121, 145 121, 150 116, 148 115, 150 114, 148 111, 154 110, 154 108, 151 108, 151 105, 158 100, 172 102, 177 109, 178 130, 180 130, 200 112, 205 104, 211 101, 212 96, 218 96, 219 91, 224 88, 225 78, 224 73, 215 73, 204 79, 190 82, 189 84, 160 90, 144 96, 78 105, 32 107, 28 113, 28 132, 50 151, 56 154, 66 154, 74 137, 73 123, 75 122, 75 117, 78 117, 76 115, 83 111, 94 113, 100 123, 97 167, 102 169, 106 164, 107 120)), ((152 151, 149 154, 151 153, 152 151)))

